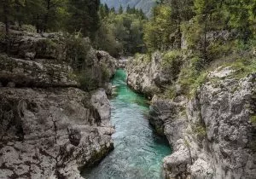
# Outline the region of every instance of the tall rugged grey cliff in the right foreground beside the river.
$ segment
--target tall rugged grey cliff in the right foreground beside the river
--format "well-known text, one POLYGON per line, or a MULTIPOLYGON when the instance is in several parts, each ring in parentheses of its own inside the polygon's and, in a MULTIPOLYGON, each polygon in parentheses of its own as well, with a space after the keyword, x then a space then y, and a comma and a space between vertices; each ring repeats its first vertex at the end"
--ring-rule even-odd
POLYGON ((220 67, 192 99, 154 97, 150 121, 173 147, 166 178, 256 177, 255 82, 255 73, 239 79, 220 67))

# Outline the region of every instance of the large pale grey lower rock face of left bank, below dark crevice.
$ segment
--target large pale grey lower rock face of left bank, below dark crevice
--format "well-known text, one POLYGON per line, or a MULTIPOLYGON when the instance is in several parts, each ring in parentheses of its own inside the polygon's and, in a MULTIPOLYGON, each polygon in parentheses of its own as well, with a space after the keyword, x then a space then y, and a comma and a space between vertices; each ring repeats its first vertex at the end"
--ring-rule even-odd
POLYGON ((79 178, 78 167, 91 165, 113 148, 113 128, 103 123, 94 95, 110 105, 102 90, 74 88, 0 90, 0 178, 79 178))

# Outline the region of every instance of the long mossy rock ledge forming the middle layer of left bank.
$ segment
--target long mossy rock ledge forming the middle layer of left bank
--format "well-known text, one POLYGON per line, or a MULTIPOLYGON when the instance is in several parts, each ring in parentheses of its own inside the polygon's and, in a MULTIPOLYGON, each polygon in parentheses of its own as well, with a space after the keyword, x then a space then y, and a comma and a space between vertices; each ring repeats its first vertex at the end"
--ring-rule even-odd
POLYGON ((26 61, 7 55, 0 55, 0 78, 3 84, 12 82, 20 87, 79 86, 73 75, 73 68, 65 62, 26 61))

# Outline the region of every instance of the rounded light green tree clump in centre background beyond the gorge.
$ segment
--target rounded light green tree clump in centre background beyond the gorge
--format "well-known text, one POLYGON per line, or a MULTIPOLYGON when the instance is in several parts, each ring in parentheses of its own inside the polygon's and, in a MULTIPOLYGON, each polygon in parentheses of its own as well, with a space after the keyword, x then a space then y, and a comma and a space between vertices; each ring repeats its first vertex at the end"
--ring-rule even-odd
POLYGON ((143 23, 140 14, 109 13, 96 33, 96 47, 111 55, 133 55, 143 51, 143 23))

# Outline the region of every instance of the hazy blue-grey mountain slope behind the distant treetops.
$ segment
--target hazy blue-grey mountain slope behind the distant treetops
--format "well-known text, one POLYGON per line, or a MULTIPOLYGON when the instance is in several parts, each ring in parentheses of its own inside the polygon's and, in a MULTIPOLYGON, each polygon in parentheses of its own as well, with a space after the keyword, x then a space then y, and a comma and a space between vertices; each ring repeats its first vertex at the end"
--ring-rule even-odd
POLYGON ((143 9, 143 12, 149 16, 151 9, 155 4, 155 0, 101 0, 102 3, 107 3, 109 7, 119 9, 120 5, 126 9, 129 5, 131 8, 143 9))

